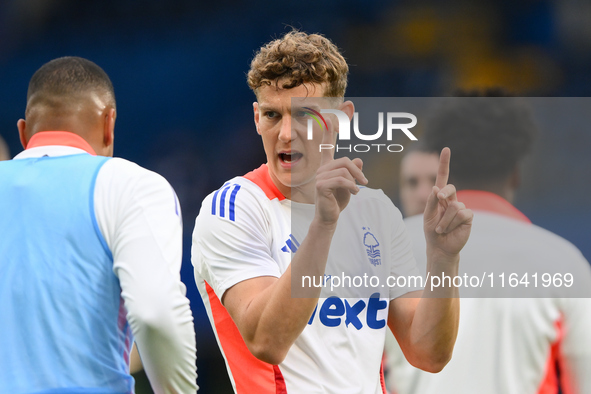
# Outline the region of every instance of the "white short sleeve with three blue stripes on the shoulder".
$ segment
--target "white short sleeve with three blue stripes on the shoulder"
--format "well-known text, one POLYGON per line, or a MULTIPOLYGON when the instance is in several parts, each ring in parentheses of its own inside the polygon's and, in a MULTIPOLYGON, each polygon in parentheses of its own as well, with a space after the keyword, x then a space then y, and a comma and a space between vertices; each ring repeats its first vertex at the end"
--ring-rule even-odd
POLYGON ((193 231, 191 260, 218 298, 230 287, 260 276, 280 277, 271 253, 271 228, 263 194, 228 183, 201 206, 193 231))

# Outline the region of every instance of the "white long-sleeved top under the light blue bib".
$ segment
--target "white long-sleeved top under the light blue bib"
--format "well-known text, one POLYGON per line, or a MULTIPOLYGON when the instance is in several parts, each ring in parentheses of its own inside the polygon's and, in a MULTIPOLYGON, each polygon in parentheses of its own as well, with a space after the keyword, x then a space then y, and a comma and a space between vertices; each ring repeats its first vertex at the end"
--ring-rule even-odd
MULTIPOLYGON (((81 153, 87 151, 60 146, 57 140, 27 149, 14 160, 81 153)), ((174 190, 162 176, 113 158, 97 175, 94 202, 154 392, 195 393, 195 331, 180 281, 182 227, 174 190)))

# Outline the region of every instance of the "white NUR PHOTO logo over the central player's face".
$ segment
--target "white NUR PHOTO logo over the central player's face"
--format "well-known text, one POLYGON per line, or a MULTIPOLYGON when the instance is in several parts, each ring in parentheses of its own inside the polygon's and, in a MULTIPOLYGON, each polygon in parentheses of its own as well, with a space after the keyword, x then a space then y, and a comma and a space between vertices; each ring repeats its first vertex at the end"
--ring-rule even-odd
MULTIPOLYGON (((319 109, 302 107, 303 112, 309 116, 307 121, 307 138, 314 138, 314 123, 318 124, 321 130, 328 129, 328 123, 323 114, 335 115, 338 119, 338 141, 336 144, 319 145, 319 150, 335 149, 336 152, 402 152, 404 147, 401 144, 392 143, 396 133, 402 132, 411 141, 417 141, 417 137, 410 131, 417 124, 417 117, 409 112, 378 112, 378 130, 373 134, 363 133, 359 126, 359 112, 353 115, 353 135, 363 143, 351 143, 351 121, 347 114, 338 109, 319 109), (405 122, 406 120, 406 122, 405 122), (385 127, 384 127, 385 123, 385 127), (386 131, 385 140, 383 138, 386 131), (370 142, 371 141, 371 142, 370 142)), ((375 115, 374 115, 375 116, 375 115)))

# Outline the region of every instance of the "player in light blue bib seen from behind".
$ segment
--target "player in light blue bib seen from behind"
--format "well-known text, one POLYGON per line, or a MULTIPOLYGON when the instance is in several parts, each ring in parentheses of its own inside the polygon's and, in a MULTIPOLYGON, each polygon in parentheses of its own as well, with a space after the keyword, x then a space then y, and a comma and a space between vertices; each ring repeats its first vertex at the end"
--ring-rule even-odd
POLYGON ((134 337, 156 393, 196 392, 180 208, 164 178, 111 158, 109 77, 52 60, 25 115, 25 150, 0 163, 0 393, 132 393, 134 337))

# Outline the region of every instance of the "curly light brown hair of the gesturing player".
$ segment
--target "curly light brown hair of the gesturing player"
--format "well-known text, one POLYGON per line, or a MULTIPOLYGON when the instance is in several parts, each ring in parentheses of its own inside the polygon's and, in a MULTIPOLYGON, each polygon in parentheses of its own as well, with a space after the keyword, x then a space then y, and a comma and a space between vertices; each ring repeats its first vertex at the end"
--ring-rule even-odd
POLYGON ((291 89, 326 83, 326 97, 344 97, 348 72, 347 62, 328 38, 293 30, 257 52, 247 80, 255 94, 264 86, 291 89))

